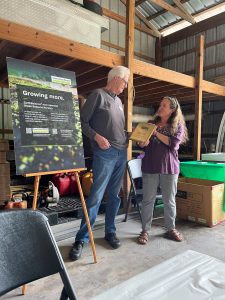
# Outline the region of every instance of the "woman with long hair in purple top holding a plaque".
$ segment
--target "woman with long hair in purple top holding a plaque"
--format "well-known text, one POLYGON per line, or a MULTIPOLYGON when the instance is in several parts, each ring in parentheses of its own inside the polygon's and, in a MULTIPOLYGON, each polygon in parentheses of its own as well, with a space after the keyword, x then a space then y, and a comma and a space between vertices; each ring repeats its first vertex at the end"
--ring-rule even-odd
POLYGON ((183 236, 175 229, 177 180, 180 172, 178 149, 188 140, 187 127, 180 104, 175 97, 164 97, 155 115, 157 128, 150 141, 139 143, 144 148, 142 161, 143 202, 142 231, 138 242, 147 244, 151 228, 157 188, 160 185, 164 202, 165 237, 177 242, 183 236))

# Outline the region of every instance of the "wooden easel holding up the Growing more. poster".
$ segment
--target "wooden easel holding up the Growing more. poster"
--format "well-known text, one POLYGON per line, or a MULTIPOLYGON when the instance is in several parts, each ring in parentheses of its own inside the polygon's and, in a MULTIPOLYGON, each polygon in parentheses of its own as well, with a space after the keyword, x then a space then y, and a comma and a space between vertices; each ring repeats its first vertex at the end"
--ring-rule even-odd
MULTIPOLYGON (((80 178, 79 178, 79 175, 78 175, 79 172, 84 171, 84 170, 86 170, 86 169, 81 168, 81 169, 72 169, 72 170, 60 170, 60 171, 50 171, 50 172, 43 172, 43 173, 31 173, 31 174, 25 174, 24 176, 25 177, 35 177, 34 178, 34 198, 33 198, 32 209, 36 210, 39 183, 40 183, 40 179, 41 179, 42 175, 57 174, 57 173, 68 173, 68 172, 75 174, 76 182, 77 182, 78 190, 79 190, 79 194, 80 194, 81 204, 82 204, 82 208, 83 208, 83 211, 84 211, 86 224, 87 224, 87 227, 88 227, 88 233, 89 233, 91 248, 92 248, 93 257, 94 257, 94 263, 97 263, 96 248, 95 248, 93 233, 92 233, 92 229, 91 229, 91 225, 90 225, 90 221, 89 221, 89 217, 88 217, 88 213, 87 213, 87 207, 86 207, 86 203, 85 203, 85 200, 84 200, 84 194, 83 194, 82 187, 81 187, 81 184, 80 184, 80 178)), ((25 293, 26 293, 26 285, 23 285, 22 294, 24 295, 25 293)))

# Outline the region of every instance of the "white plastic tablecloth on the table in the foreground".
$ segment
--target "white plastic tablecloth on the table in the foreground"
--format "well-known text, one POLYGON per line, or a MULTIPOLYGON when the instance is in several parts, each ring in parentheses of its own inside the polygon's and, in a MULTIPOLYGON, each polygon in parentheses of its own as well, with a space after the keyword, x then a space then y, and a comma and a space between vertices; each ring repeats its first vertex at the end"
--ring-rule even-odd
POLYGON ((92 300, 225 300, 225 262, 185 251, 92 300))

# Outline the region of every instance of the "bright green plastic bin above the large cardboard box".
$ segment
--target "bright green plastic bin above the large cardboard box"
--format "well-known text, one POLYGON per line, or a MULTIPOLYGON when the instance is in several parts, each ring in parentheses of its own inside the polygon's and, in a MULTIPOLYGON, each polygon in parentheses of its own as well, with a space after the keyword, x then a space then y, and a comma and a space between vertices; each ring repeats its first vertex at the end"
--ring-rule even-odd
MULTIPOLYGON (((185 177, 217 180, 225 184, 225 164, 223 163, 203 161, 181 162, 180 172, 185 177)), ((225 211, 225 193, 223 197, 223 210, 225 211)))

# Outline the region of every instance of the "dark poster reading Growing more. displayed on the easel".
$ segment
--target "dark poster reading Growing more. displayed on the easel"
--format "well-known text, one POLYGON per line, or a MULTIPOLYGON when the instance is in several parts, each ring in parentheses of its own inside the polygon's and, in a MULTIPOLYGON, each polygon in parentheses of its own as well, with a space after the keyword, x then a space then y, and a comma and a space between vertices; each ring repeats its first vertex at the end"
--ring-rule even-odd
POLYGON ((17 174, 84 168, 74 72, 7 58, 17 174))

